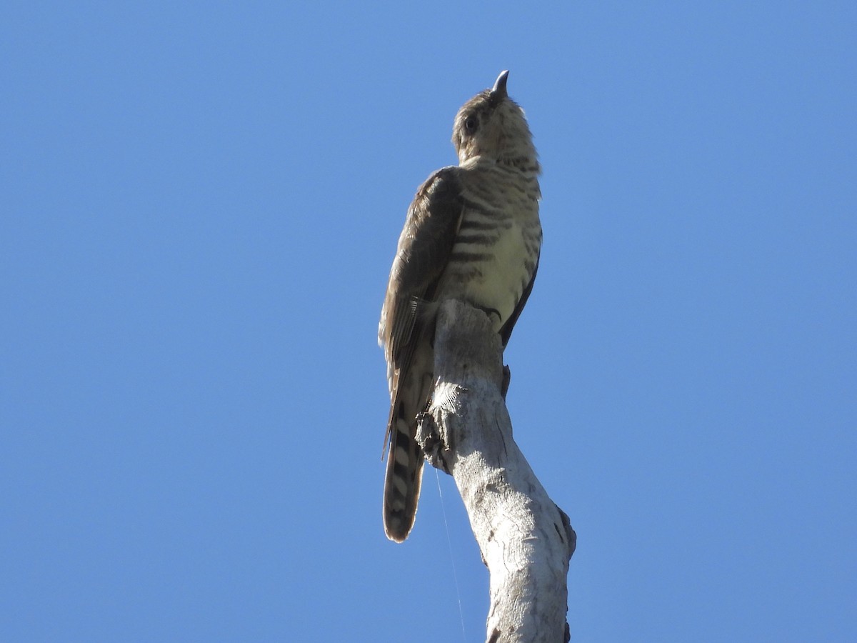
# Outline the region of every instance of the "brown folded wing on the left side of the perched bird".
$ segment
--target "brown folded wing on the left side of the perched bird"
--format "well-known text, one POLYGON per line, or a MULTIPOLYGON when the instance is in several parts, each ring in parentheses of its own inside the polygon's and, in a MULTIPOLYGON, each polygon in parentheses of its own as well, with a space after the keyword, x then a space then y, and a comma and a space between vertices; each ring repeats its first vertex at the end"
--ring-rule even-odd
POLYGON ((434 300, 464 212, 457 167, 434 172, 408 209, 381 309, 378 340, 384 346, 391 388, 404 377, 423 333, 425 304, 434 300), (399 371, 395 373, 394 371, 399 371))

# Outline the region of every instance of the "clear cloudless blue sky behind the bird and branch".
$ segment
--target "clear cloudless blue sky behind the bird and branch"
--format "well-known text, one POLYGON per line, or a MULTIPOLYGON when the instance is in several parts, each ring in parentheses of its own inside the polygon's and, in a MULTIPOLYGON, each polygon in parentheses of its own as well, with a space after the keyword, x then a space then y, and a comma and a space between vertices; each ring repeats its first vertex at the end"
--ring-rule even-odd
POLYGON ((375 337, 501 69, 544 170, 508 406, 573 640, 857 638, 857 5, 3 14, 0 638, 483 640, 451 479, 384 538, 375 337))

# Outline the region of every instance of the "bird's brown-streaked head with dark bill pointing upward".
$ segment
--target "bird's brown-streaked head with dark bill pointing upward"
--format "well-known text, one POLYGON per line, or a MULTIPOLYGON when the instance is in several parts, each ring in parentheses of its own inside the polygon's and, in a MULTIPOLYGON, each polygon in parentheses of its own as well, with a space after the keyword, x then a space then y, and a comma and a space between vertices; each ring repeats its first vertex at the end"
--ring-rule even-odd
POLYGON ((500 73, 494 87, 477 93, 458 110, 452 143, 459 163, 482 157, 537 173, 536 147, 524 110, 506 93, 508 77, 508 71, 500 73))

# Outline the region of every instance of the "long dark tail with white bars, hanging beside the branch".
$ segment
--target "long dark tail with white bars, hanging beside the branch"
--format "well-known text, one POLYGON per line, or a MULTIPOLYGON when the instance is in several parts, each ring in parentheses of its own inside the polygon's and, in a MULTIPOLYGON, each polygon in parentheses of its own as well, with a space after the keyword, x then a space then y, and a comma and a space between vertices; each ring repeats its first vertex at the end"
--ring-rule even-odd
POLYGON ((384 479, 384 532, 401 543, 408 538, 417 517, 423 482, 423 449, 417 443, 416 412, 406 410, 404 400, 394 400, 390 410, 390 452, 384 479))

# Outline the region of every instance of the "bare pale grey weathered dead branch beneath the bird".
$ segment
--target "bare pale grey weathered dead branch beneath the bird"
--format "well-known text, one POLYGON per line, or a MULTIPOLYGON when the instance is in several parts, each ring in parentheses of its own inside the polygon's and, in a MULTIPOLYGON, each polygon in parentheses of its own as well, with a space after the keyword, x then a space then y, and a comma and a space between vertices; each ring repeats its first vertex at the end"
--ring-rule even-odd
POLYGON ((568 640, 566 576, 576 537, 512 440, 500 336, 481 310, 442 304, 434 376, 433 421, 417 439, 455 478, 488 566, 487 640, 568 640))

